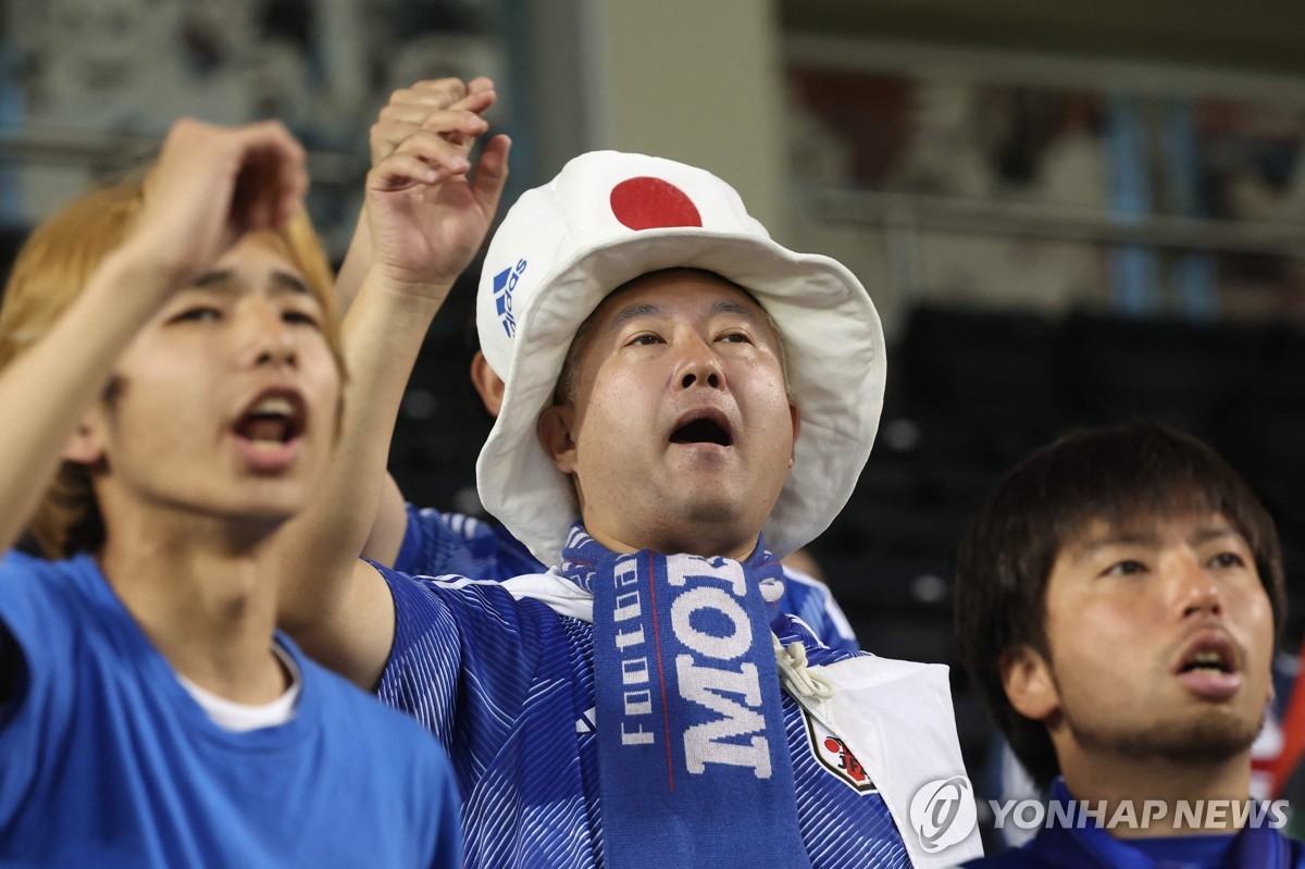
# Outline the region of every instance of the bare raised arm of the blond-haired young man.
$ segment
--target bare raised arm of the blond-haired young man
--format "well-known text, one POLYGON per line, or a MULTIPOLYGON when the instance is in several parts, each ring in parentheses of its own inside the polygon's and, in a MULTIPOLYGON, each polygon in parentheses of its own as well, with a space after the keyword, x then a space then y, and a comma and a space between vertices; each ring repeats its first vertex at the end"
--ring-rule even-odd
MULTIPOLYGON (((22 534, 60 459, 76 461, 78 424, 141 325, 241 232, 284 223, 307 184, 303 149, 279 124, 180 120, 145 180, 127 239, 54 325, 25 335, 3 318, 4 358, 13 358, 0 369, 0 551, 22 534)), ((14 274, 23 267, 20 257, 14 274)), ((34 283, 22 292, 48 290, 34 283)), ((12 284, 7 295, 18 291, 12 284)))

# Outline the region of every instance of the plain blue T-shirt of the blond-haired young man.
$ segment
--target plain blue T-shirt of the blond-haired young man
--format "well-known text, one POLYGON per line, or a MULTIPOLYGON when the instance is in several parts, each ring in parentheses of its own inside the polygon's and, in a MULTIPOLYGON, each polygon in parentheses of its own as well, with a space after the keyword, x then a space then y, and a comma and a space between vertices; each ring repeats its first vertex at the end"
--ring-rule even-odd
POLYGON ((0 561, 0 865, 458 866, 429 736, 284 637, 294 716, 232 732, 85 556, 0 561))

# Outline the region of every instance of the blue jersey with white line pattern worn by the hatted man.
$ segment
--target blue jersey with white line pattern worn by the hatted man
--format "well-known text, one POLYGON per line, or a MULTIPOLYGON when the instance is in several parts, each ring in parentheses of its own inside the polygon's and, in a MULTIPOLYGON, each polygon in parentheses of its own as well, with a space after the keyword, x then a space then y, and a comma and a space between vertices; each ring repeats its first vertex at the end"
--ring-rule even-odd
MULTIPOLYGON (((381 569, 395 634, 378 694, 449 749, 463 797, 468 868, 603 865, 592 626, 493 581, 412 578, 381 569)), ((813 664, 850 655, 795 620, 779 638, 813 664)), ((907 866, 883 800, 821 759, 821 735, 784 694, 799 826, 814 869, 907 866)), ((855 765, 855 759, 851 761, 855 765)))

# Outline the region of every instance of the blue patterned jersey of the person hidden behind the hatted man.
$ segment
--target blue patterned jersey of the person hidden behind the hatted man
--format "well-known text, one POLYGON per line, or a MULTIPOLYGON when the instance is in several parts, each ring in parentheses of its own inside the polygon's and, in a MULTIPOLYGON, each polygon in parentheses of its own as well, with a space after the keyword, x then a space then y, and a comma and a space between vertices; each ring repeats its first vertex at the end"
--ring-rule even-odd
MULTIPOLYGON (((407 532, 394 560, 399 573, 423 577, 457 574, 476 579, 510 579, 540 573, 544 566, 523 543, 497 522, 482 522, 459 513, 407 506, 407 532)), ((847 616, 829 587, 800 570, 784 568, 784 596, 775 612, 792 613, 830 648, 860 648, 847 616)))

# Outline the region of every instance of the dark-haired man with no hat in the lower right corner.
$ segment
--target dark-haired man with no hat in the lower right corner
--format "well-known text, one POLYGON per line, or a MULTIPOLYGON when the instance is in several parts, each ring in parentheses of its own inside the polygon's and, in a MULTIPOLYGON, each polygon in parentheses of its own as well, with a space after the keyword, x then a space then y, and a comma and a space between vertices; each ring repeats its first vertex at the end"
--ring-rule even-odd
POLYGON ((957 630, 1057 810, 981 862, 1301 865, 1249 802, 1283 609, 1274 523, 1199 441, 1083 432, 1013 470, 962 543, 957 630))

